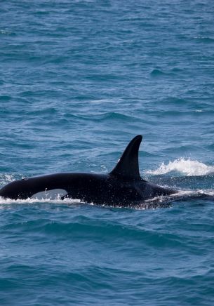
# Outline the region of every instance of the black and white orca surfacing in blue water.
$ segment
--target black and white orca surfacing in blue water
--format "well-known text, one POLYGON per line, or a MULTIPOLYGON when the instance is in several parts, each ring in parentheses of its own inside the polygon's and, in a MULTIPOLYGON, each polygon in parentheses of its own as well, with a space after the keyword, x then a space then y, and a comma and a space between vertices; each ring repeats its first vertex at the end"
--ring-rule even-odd
POLYGON ((138 153, 142 135, 126 147, 115 168, 107 174, 55 173, 15 180, 0 189, 10 199, 80 199, 107 206, 135 206, 148 199, 175 194, 140 177, 138 153))

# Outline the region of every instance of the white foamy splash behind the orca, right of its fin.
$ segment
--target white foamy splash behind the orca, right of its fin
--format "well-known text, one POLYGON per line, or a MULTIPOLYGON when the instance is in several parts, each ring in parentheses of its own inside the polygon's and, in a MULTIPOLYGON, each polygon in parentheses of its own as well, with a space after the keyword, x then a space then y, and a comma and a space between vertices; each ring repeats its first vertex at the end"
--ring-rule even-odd
POLYGON ((160 175, 170 172, 178 172, 187 176, 194 175, 208 175, 214 173, 213 166, 207 166, 199 161, 192 161, 191 159, 175 159, 168 164, 162 163, 158 169, 154 171, 147 171, 147 174, 160 175))

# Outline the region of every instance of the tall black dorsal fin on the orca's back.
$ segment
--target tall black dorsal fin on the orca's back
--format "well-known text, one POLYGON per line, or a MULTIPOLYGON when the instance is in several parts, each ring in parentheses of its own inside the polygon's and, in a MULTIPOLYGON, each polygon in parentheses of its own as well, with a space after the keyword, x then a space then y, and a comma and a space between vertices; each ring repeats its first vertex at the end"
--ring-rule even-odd
POLYGON ((129 142, 115 168, 110 173, 111 175, 119 176, 126 180, 141 179, 138 164, 138 152, 141 140, 142 135, 138 135, 129 142))

